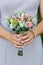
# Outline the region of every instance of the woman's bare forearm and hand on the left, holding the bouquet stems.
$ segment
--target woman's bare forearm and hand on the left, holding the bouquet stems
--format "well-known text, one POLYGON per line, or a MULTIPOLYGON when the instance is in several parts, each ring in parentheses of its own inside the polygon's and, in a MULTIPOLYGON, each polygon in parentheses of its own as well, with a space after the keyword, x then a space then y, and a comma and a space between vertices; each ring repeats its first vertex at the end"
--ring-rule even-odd
POLYGON ((21 48, 23 46, 18 40, 18 34, 12 34, 5 30, 2 26, 0 26, 0 38, 9 40, 15 47, 21 48))

